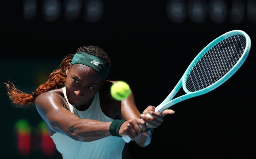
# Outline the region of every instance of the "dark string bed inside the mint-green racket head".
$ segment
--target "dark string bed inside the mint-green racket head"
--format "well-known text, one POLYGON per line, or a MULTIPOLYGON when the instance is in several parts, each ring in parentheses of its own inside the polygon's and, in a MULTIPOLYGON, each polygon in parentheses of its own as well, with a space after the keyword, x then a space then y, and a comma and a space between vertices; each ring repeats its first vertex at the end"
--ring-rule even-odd
POLYGON ((199 57, 188 72, 186 88, 190 92, 212 85, 233 68, 246 46, 242 35, 230 36, 199 57))

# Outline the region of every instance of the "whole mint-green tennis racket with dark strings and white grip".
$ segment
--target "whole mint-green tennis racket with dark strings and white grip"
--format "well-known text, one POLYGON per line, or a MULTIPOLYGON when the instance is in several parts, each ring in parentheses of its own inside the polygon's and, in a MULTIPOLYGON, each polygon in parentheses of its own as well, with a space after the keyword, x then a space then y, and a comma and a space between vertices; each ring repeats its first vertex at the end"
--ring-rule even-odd
MULTIPOLYGON (((242 30, 233 30, 216 38, 194 58, 171 93, 155 108, 155 112, 160 114, 180 101, 208 93, 220 86, 242 66, 250 48, 250 37, 242 30), (172 99, 181 86, 186 94, 172 99)), ((122 138, 127 143, 131 140, 126 135, 122 138)))

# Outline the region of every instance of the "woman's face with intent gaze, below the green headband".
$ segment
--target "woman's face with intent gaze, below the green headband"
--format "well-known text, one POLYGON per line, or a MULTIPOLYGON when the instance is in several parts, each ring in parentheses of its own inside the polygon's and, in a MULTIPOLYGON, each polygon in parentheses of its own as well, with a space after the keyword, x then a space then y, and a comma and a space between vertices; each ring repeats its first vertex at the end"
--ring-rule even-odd
POLYGON ((66 75, 68 102, 76 107, 90 102, 105 82, 98 72, 82 64, 69 64, 66 75))

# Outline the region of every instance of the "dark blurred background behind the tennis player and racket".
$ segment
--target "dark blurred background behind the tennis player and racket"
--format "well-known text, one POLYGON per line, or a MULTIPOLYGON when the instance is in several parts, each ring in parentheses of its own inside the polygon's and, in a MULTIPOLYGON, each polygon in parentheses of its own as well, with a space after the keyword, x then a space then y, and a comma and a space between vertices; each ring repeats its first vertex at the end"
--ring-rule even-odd
POLYGON ((255 28, 256 0, 0 0, 0 157, 62 158, 35 105, 14 107, 4 82, 32 93, 64 56, 97 45, 112 59, 108 79, 128 82, 143 111, 160 104, 194 57, 231 30, 252 40, 240 70, 172 106, 175 114, 154 130, 151 144, 130 142, 129 151, 134 159, 255 156, 255 28))

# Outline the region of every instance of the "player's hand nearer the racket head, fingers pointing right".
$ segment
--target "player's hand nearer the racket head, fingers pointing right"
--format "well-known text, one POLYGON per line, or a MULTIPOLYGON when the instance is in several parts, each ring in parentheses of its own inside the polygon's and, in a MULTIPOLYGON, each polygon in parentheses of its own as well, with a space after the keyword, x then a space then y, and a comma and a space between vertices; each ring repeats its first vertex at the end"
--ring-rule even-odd
POLYGON ((161 114, 155 113, 155 107, 150 105, 143 111, 143 114, 140 116, 148 124, 147 127, 156 128, 164 121, 165 115, 173 113, 174 111, 171 109, 166 109, 161 114), (146 116, 147 114, 150 114, 151 116, 146 116))

